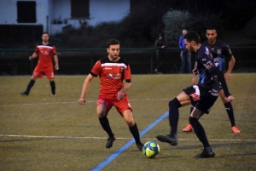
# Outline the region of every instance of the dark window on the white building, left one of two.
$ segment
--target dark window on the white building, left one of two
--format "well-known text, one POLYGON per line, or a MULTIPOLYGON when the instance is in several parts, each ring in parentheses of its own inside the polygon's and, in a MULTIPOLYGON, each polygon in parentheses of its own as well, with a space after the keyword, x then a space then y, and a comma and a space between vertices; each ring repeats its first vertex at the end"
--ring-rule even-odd
POLYGON ((17 22, 36 23, 36 5, 35 1, 17 1, 17 22))

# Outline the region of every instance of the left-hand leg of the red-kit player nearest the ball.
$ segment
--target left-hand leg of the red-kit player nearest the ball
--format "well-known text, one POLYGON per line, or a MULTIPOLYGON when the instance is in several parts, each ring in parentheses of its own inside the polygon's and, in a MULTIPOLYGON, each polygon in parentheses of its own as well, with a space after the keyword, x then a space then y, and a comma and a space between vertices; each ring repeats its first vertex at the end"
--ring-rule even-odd
POLYGON ((108 134, 108 142, 106 144, 106 148, 111 148, 113 146, 113 141, 115 140, 115 136, 112 132, 112 129, 110 127, 110 124, 108 122, 108 111, 111 109, 111 104, 109 104, 106 100, 97 100, 97 117, 99 118, 99 122, 102 125, 102 128, 107 132, 108 134))

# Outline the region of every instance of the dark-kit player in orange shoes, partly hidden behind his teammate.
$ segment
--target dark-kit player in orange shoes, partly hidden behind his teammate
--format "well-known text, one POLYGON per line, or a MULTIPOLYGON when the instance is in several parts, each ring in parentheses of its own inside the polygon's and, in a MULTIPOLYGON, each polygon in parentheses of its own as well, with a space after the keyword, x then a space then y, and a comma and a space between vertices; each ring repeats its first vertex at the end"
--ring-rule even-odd
MULTIPOLYGON (((207 36, 208 40, 204 43, 201 43, 201 46, 207 47, 207 48, 209 48, 209 50, 211 50, 211 53, 214 58, 215 66, 218 67, 218 70, 224 71, 224 57, 226 57, 230 61, 228 71, 224 75, 226 82, 229 82, 231 72, 232 72, 233 67, 235 66, 235 62, 236 62, 235 57, 231 53, 231 50, 227 44, 216 39, 217 31, 215 28, 208 28, 206 36, 207 36)), ((197 77, 193 77, 192 84, 195 84, 196 80, 197 80, 197 77)), ((220 88, 219 96, 221 97, 221 100, 223 101, 225 109, 230 118, 231 130, 233 133, 240 133, 240 130, 236 127, 233 106, 230 101, 225 100, 224 90, 222 88, 221 83, 219 84, 219 88, 220 88)), ((191 110, 193 110, 193 108, 194 107, 191 106, 191 110)), ((189 123, 186 126, 186 128, 183 128, 183 132, 191 132, 191 131, 193 131, 193 127, 191 126, 191 123, 189 123)))

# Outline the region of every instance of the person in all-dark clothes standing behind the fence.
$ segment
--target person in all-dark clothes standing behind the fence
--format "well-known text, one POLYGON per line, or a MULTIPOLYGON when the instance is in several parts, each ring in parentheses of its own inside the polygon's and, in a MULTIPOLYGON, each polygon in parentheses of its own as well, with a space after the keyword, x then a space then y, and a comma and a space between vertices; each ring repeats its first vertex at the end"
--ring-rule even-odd
POLYGON ((166 40, 162 34, 159 34, 158 39, 154 42, 154 48, 156 48, 156 68, 155 73, 160 74, 160 66, 162 66, 166 59, 166 40))

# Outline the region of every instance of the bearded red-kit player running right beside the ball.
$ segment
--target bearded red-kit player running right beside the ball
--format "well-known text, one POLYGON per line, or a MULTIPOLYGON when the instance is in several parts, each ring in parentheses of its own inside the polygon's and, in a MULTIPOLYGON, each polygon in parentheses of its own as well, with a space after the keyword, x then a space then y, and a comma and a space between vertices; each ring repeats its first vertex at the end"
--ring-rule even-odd
POLYGON ((136 141, 137 148, 143 151, 143 143, 140 140, 137 123, 133 119, 132 108, 126 94, 126 91, 131 87, 131 69, 127 61, 119 57, 119 45, 120 43, 116 39, 108 40, 108 56, 98 60, 85 78, 79 104, 85 104, 85 94, 90 82, 93 77, 99 76, 101 89, 96 104, 96 112, 102 128, 108 134, 106 148, 111 148, 115 140, 107 117, 108 111, 112 106, 115 106, 119 114, 124 117, 125 123, 127 123, 136 141), (123 80, 125 80, 125 84, 123 84, 123 80))

